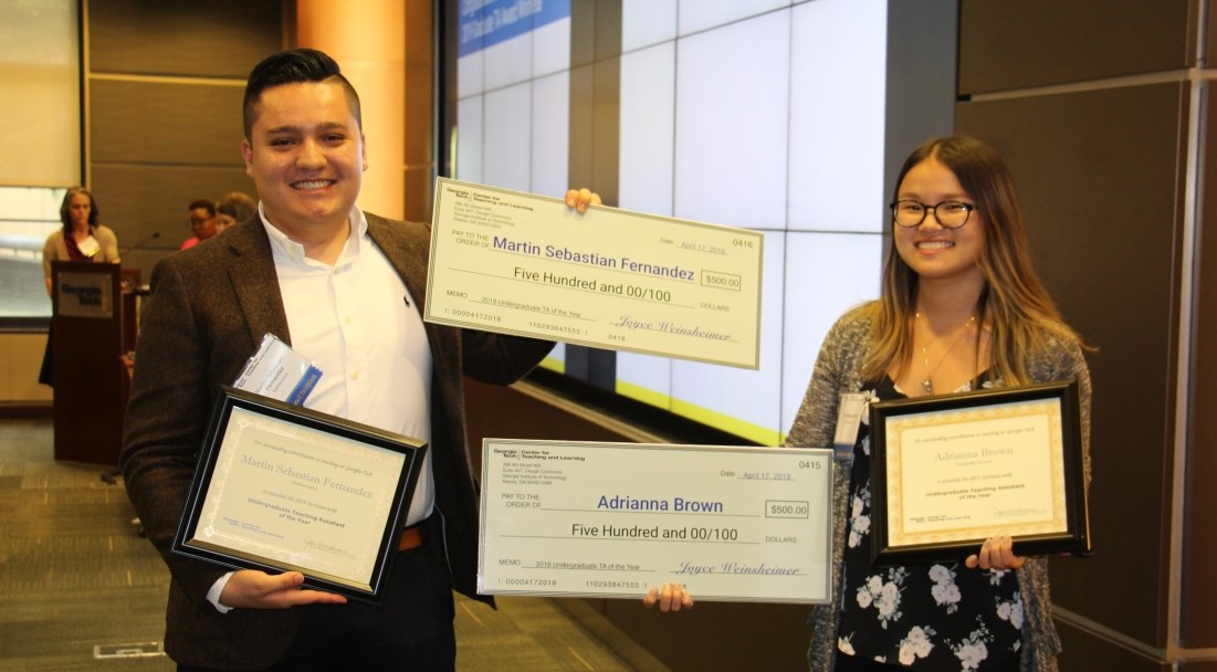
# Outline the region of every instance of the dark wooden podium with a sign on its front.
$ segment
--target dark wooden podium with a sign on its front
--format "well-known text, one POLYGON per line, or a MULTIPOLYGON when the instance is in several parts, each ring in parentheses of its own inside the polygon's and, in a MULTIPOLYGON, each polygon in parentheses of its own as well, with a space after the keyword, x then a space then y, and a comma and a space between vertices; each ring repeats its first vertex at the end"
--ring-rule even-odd
POLYGON ((139 270, 51 262, 55 459, 118 466, 139 270), (133 280, 134 279, 134 280, 133 280))

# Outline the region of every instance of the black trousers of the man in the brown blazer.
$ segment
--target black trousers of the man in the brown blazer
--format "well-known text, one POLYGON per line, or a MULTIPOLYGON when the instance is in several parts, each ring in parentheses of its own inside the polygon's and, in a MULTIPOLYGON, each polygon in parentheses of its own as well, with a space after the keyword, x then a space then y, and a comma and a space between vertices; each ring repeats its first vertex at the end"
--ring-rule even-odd
MULTIPOLYGON (((296 642, 267 671, 454 670, 455 612, 443 541, 438 533, 425 538, 421 547, 398 553, 380 606, 352 600, 297 607, 304 610, 304 621, 296 642)), ((178 671, 211 672, 185 665, 178 671)))

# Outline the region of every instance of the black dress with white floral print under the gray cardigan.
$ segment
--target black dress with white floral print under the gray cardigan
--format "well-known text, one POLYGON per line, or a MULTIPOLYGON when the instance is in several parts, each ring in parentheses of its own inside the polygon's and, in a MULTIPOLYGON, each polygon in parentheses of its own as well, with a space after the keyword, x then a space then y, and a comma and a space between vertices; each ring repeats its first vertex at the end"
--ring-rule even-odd
MULTIPOLYGON (((977 381, 983 381, 982 374, 977 381)), ((982 383, 988 387, 989 383, 982 383)), ((864 392, 904 398, 888 376, 864 392)), ((971 383, 959 391, 971 390, 971 383)), ((927 671, 992 670, 1019 655, 1022 599, 1013 571, 968 569, 964 559, 919 566, 871 564, 869 418, 849 475, 848 542, 837 649, 927 671)))

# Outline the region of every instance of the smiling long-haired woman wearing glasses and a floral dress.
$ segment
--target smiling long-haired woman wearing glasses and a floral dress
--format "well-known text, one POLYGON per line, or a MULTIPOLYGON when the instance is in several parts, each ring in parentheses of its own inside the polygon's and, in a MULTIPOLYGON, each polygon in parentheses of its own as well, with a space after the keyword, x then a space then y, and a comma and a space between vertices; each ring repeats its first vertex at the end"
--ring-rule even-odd
MULTIPOLYGON (((830 330, 787 446, 832 446, 842 394, 890 401, 1076 379, 1088 483, 1084 346, 1032 269, 1002 158, 971 138, 930 140, 904 162, 891 209, 880 298, 830 330)), ((1056 670, 1047 558, 993 537, 958 561, 873 564, 865 421, 856 436, 836 471, 837 589, 812 616, 812 670, 1056 670)))

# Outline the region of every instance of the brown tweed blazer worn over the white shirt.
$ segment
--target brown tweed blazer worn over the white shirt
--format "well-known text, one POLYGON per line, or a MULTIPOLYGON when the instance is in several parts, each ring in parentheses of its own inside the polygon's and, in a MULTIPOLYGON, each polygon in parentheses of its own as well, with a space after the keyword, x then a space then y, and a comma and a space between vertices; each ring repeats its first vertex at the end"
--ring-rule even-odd
MULTIPOLYGON (((369 235, 421 310, 430 226, 366 217, 369 235)), ((264 334, 291 342, 262 222, 256 218, 169 254, 153 268, 151 284, 152 296, 140 317, 120 464, 131 503, 173 577, 166 650, 185 665, 267 667, 295 638, 299 614, 242 609, 220 614, 206 595, 226 570, 170 553, 220 385, 236 377, 264 334)), ((443 515, 455 588, 476 598, 477 485, 465 438, 462 375, 511 383, 532 370, 553 343, 425 326, 433 359, 436 506, 443 515)))

